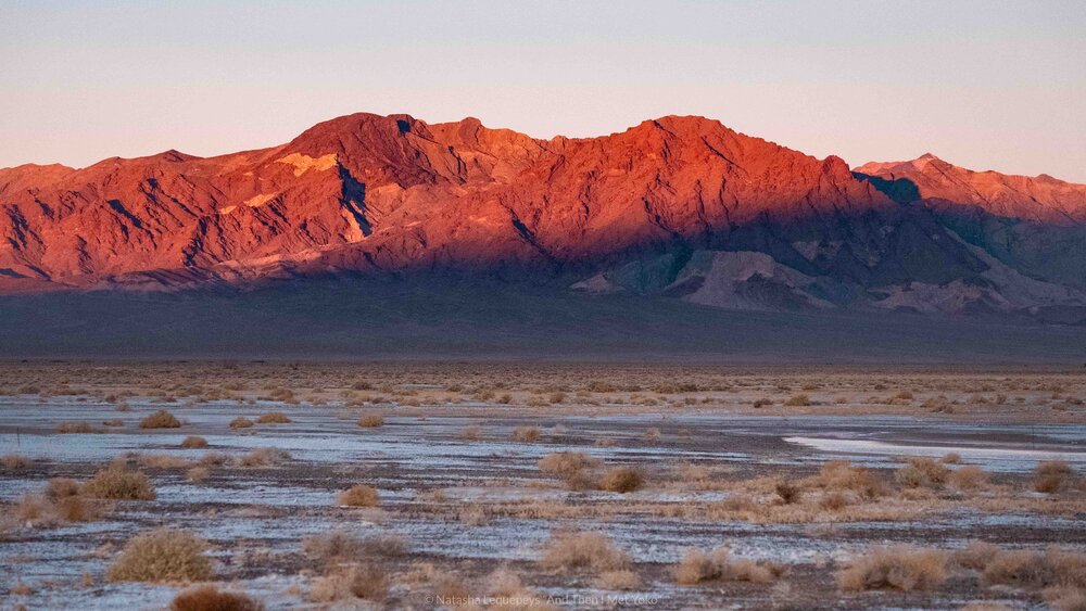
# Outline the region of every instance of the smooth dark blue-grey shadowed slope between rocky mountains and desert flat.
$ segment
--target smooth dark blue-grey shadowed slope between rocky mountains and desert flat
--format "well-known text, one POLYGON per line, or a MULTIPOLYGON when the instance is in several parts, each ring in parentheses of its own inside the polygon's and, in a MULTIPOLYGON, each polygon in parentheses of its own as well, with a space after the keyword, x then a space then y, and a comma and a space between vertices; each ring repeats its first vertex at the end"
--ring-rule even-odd
POLYGON ((427 281, 0 297, 0 354, 1086 362, 1086 328, 1006 318, 728 311, 667 297, 427 281))

